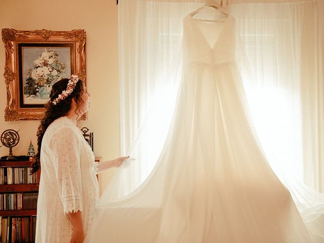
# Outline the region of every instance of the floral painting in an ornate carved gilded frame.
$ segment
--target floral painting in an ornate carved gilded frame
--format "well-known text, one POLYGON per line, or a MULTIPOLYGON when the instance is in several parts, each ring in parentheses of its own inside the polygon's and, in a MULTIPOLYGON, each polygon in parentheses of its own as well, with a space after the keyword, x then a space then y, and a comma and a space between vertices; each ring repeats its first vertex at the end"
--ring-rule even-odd
POLYGON ((62 78, 77 74, 87 85, 85 30, 6 28, 2 29, 2 39, 6 50, 6 121, 40 119, 53 84, 62 78))

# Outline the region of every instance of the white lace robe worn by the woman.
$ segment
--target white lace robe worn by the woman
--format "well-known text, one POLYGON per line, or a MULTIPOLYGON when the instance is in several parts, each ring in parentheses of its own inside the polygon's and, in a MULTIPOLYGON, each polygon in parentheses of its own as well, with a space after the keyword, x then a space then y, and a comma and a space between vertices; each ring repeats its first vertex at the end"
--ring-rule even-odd
POLYGON ((98 200, 97 163, 82 133, 65 116, 44 134, 41 168, 36 242, 70 243, 73 227, 67 213, 78 210, 87 235, 98 200))

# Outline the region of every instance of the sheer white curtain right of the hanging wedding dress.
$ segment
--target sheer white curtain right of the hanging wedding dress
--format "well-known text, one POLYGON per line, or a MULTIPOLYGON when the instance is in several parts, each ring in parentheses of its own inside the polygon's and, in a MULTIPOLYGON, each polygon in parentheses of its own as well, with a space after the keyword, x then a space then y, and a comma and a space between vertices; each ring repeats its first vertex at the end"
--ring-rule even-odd
POLYGON ((272 167, 323 191, 320 2, 233 0, 230 9, 255 75, 247 96, 272 167))

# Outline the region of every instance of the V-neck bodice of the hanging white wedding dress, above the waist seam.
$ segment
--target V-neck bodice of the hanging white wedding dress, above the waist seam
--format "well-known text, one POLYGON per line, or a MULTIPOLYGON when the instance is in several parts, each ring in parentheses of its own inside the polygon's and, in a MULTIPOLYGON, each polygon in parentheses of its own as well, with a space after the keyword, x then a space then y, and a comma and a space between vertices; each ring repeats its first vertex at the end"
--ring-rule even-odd
POLYGON ((183 20, 184 60, 218 65, 235 60, 235 19, 201 22, 187 15, 183 20), (215 36, 214 33, 217 33, 215 36), (213 38, 213 39, 211 39, 213 38))

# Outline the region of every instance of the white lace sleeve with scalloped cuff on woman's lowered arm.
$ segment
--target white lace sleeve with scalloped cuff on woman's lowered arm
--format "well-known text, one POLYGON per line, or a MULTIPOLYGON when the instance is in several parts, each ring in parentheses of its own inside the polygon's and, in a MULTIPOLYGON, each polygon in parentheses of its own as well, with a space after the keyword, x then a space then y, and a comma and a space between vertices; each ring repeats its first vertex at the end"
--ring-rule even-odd
POLYGON ((83 211, 79 142, 72 129, 63 127, 53 134, 52 145, 64 213, 83 211))

